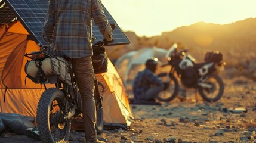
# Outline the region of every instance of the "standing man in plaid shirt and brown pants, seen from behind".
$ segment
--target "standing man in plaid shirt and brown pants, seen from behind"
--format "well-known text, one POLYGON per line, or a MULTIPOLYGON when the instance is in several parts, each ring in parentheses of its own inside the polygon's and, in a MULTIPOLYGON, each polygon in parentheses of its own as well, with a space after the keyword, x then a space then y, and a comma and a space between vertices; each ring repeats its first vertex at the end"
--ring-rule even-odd
POLYGON ((51 54, 70 58, 83 104, 85 140, 101 142, 95 130, 92 18, 104 38, 113 41, 100 0, 50 0, 42 36, 51 43, 51 54))

